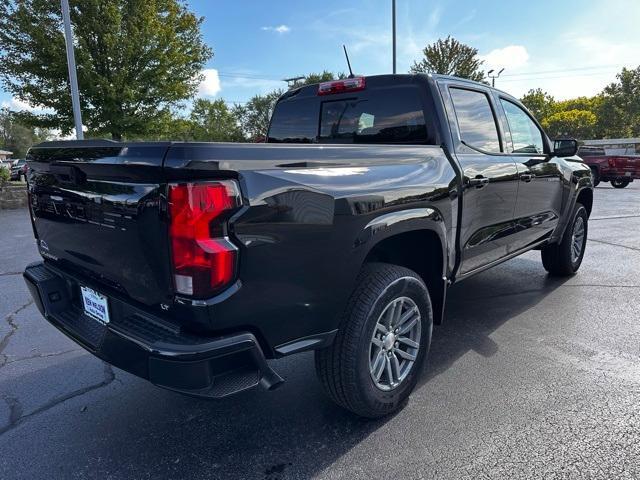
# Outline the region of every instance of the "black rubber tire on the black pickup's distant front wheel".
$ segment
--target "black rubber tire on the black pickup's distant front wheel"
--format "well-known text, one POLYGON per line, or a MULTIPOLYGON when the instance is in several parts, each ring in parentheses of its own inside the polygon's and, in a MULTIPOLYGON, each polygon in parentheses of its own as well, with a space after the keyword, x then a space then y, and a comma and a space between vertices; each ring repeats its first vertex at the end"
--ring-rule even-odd
POLYGON ((559 243, 553 243, 542 249, 542 265, 549 274, 555 276, 574 275, 584 258, 584 252, 587 246, 588 233, 587 210, 581 203, 576 203, 573 209, 571 223, 567 225, 567 229, 559 243), (580 250, 578 255, 572 254, 574 249, 574 231, 578 229, 579 223, 582 222, 584 234, 579 242, 580 250))

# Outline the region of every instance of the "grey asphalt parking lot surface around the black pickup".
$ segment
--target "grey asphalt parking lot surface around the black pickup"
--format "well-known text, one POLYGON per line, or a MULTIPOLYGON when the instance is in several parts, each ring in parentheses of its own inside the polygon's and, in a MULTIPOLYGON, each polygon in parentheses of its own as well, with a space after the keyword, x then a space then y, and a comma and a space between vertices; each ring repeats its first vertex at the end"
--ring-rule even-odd
POLYGON ((47 324, 0 211, 0 478, 640 478, 640 182, 595 192, 578 275, 530 252, 454 286, 407 407, 364 421, 287 380, 207 402, 112 369, 47 324))

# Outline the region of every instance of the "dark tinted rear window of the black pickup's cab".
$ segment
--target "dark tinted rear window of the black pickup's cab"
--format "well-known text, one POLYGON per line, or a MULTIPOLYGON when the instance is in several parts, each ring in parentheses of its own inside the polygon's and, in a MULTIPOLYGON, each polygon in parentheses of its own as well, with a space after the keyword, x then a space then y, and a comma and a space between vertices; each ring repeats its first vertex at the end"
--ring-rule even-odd
POLYGON ((421 144, 428 140, 415 87, 378 89, 352 98, 283 100, 269 130, 270 142, 421 144))

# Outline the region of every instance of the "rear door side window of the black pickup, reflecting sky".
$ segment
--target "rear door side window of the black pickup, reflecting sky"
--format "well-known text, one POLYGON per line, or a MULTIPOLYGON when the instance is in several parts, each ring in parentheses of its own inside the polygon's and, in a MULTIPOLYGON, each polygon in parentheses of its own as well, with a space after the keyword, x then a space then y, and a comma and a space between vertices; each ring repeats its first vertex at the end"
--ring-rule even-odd
POLYGON ((450 92, 464 143, 485 152, 500 152, 498 127, 487 95, 462 88, 450 92))

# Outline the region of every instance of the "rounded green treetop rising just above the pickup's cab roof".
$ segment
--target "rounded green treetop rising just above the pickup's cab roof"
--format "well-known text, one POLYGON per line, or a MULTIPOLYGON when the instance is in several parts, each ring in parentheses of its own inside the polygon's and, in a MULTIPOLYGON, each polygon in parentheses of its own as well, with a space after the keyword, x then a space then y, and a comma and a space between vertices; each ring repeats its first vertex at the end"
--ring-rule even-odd
POLYGON ((478 58, 478 50, 451 36, 427 45, 422 53, 424 58, 413 62, 411 73, 455 75, 477 82, 485 80, 481 70, 483 61, 478 58))

